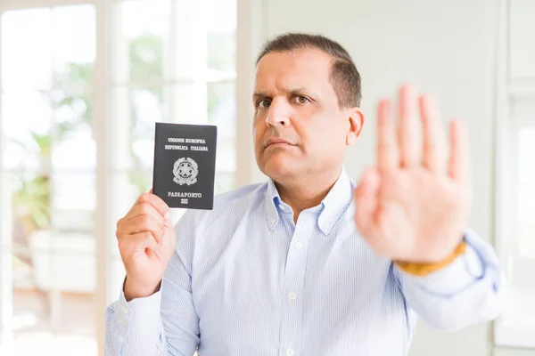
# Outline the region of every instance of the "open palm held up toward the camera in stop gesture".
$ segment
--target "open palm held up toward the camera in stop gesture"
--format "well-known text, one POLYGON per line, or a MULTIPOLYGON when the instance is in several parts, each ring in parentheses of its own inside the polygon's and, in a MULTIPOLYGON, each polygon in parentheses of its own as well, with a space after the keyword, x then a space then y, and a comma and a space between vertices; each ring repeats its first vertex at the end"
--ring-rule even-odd
POLYGON ((472 206, 465 126, 449 124, 448 145, 435 101, 410 85, 399 91, 399 125, 389 100, 377 116, 377 166, 354 194, 358 231, 392 260, 440 262, 461 242, 472 206))

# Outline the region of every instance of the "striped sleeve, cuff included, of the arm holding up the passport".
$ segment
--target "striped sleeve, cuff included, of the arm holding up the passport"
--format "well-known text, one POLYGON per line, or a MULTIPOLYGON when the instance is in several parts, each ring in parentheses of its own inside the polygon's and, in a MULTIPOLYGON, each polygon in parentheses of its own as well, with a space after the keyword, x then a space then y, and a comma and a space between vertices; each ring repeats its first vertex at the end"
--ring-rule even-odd
POLYGON ((106 309, 106 356, 192 356, 199 344, 199 319, 191 289, 193 229, 190 214, 175 226, 177 247, 160 291, 127 302, 119 300, 106 309))

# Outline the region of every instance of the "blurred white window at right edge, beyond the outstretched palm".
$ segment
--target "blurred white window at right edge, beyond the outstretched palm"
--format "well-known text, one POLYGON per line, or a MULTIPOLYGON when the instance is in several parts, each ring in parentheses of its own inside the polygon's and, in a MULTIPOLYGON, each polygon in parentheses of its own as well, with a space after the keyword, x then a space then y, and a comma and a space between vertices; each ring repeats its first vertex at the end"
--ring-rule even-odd
POLYGON ((510 0, 498 98, 498 247, 511 286, 498 346, 535 348, 535 3, 510 0), (508 61, 507 61, 508 59, 508 61))

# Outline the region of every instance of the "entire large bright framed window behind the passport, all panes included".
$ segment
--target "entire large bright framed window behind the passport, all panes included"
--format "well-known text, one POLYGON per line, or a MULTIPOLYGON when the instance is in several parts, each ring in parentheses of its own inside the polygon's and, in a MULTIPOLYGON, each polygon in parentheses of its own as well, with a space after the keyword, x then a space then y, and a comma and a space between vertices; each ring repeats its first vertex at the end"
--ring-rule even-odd
POLYGON ((0 4, 1 354, 102 352, 156 121, 218 125, 235 187, 235 25, 235 0, 0 4))

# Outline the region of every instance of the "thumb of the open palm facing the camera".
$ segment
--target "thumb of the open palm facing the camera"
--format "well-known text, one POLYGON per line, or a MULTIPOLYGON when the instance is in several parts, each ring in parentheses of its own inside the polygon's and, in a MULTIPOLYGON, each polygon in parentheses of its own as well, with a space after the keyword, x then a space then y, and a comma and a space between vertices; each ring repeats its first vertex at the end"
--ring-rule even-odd
POLYGON ((361 234, 373 235, 381 176, 376 168, 368 168, 355 188, 355 223, 361 234))

